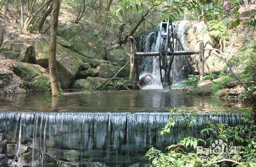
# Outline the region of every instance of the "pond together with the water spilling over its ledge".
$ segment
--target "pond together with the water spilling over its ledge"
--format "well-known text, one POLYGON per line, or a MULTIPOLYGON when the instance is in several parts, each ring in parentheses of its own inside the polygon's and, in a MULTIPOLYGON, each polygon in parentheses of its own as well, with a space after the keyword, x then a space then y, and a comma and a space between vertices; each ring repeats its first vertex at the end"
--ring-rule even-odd
POLYGON ((245 107, 179 90, 0 97, 0 161, 48 166, 54 159, 80 166, 129 166, 147 162, 143 155, 148 148, 163 149, 184 132, 210 137, 199 132, 209 119, 239 124, 245 107), (189 128, 178 121, 170 134, 161 136, 158 131, 175 116, 169 110, 181 106, 199 113, 200 117, 189 118, 197 119, 198 125, 189 128))

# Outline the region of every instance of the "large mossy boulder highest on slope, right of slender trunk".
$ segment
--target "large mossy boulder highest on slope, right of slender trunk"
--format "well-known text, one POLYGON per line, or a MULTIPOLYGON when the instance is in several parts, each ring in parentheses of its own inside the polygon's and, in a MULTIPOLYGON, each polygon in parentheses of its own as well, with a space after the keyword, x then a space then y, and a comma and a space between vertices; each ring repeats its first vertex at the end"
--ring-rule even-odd
POLYGON ((86 25, 78 24, 59 25, 58 36, 71 43, 72 50, 87 58, 104 57, 103 42, 98 33, 86 30, 86 25))

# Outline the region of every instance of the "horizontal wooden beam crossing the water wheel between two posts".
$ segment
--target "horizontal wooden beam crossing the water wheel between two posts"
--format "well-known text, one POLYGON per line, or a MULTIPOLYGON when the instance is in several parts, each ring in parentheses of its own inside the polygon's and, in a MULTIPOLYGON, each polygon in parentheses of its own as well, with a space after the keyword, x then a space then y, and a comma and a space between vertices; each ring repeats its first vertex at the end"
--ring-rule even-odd
MULTIPOLYGON (((168 52, 167 55, 191 55, 191 54, 199 54, 200 51, 198 50, 181 50, 181 51, 174 51, 174 52, 168 52)), ((159 56, 159 52, 136 52, 136 55, 138 56, 159 56)))

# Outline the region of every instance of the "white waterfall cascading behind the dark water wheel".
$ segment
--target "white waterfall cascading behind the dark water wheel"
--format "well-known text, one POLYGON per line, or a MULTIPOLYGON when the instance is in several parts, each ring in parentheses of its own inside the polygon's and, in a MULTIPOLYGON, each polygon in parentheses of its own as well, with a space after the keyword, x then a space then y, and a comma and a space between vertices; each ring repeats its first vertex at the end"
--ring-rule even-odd
MULTIPOLYGON (((179 43, 174 39, 175 50, 182 50, 186 48, 186 24, 189 21, 179 21, 174 23, 174 34, 176 38, 179 38, 179 43), (181 46, 182 45, 182 46, 181 46)), ((202 27, 199 27, 200 30, 202 27)), ((162 38, 159 32, 153 32, 150 34, 145 34, 140 36, 138 42, 138 51, 140 52, 158 52, 160 42, 162 38)), ((160 79, 160 68, 158 57, 142 57, 140 59, 139 66, 139 78, 141 79, 146 74, 150 74, 154 77, 150 84, 146 85, 145 88, 162 89, 161 79, 160 79)), ((170 71, 170 78, 174 84, 181 82, 189 73, 189 68, 187 66, 184 55, 179 55, 174 57, 172 69, 170 71)))

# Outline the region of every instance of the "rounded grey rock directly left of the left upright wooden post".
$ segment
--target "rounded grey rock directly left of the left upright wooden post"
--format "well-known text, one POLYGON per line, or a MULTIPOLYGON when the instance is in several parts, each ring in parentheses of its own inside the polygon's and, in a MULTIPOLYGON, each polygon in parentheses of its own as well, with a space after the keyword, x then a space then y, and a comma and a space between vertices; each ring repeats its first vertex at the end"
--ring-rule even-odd
POLYGON ((120 66, 123 66, 127 61, 130 60, 130 50, 127 49, 126 45, 127 44, 123 44, 122 46, 118 45, 109 49, 107 51, 106 58, 110 60, 110 62, 118 63, 120 66))

